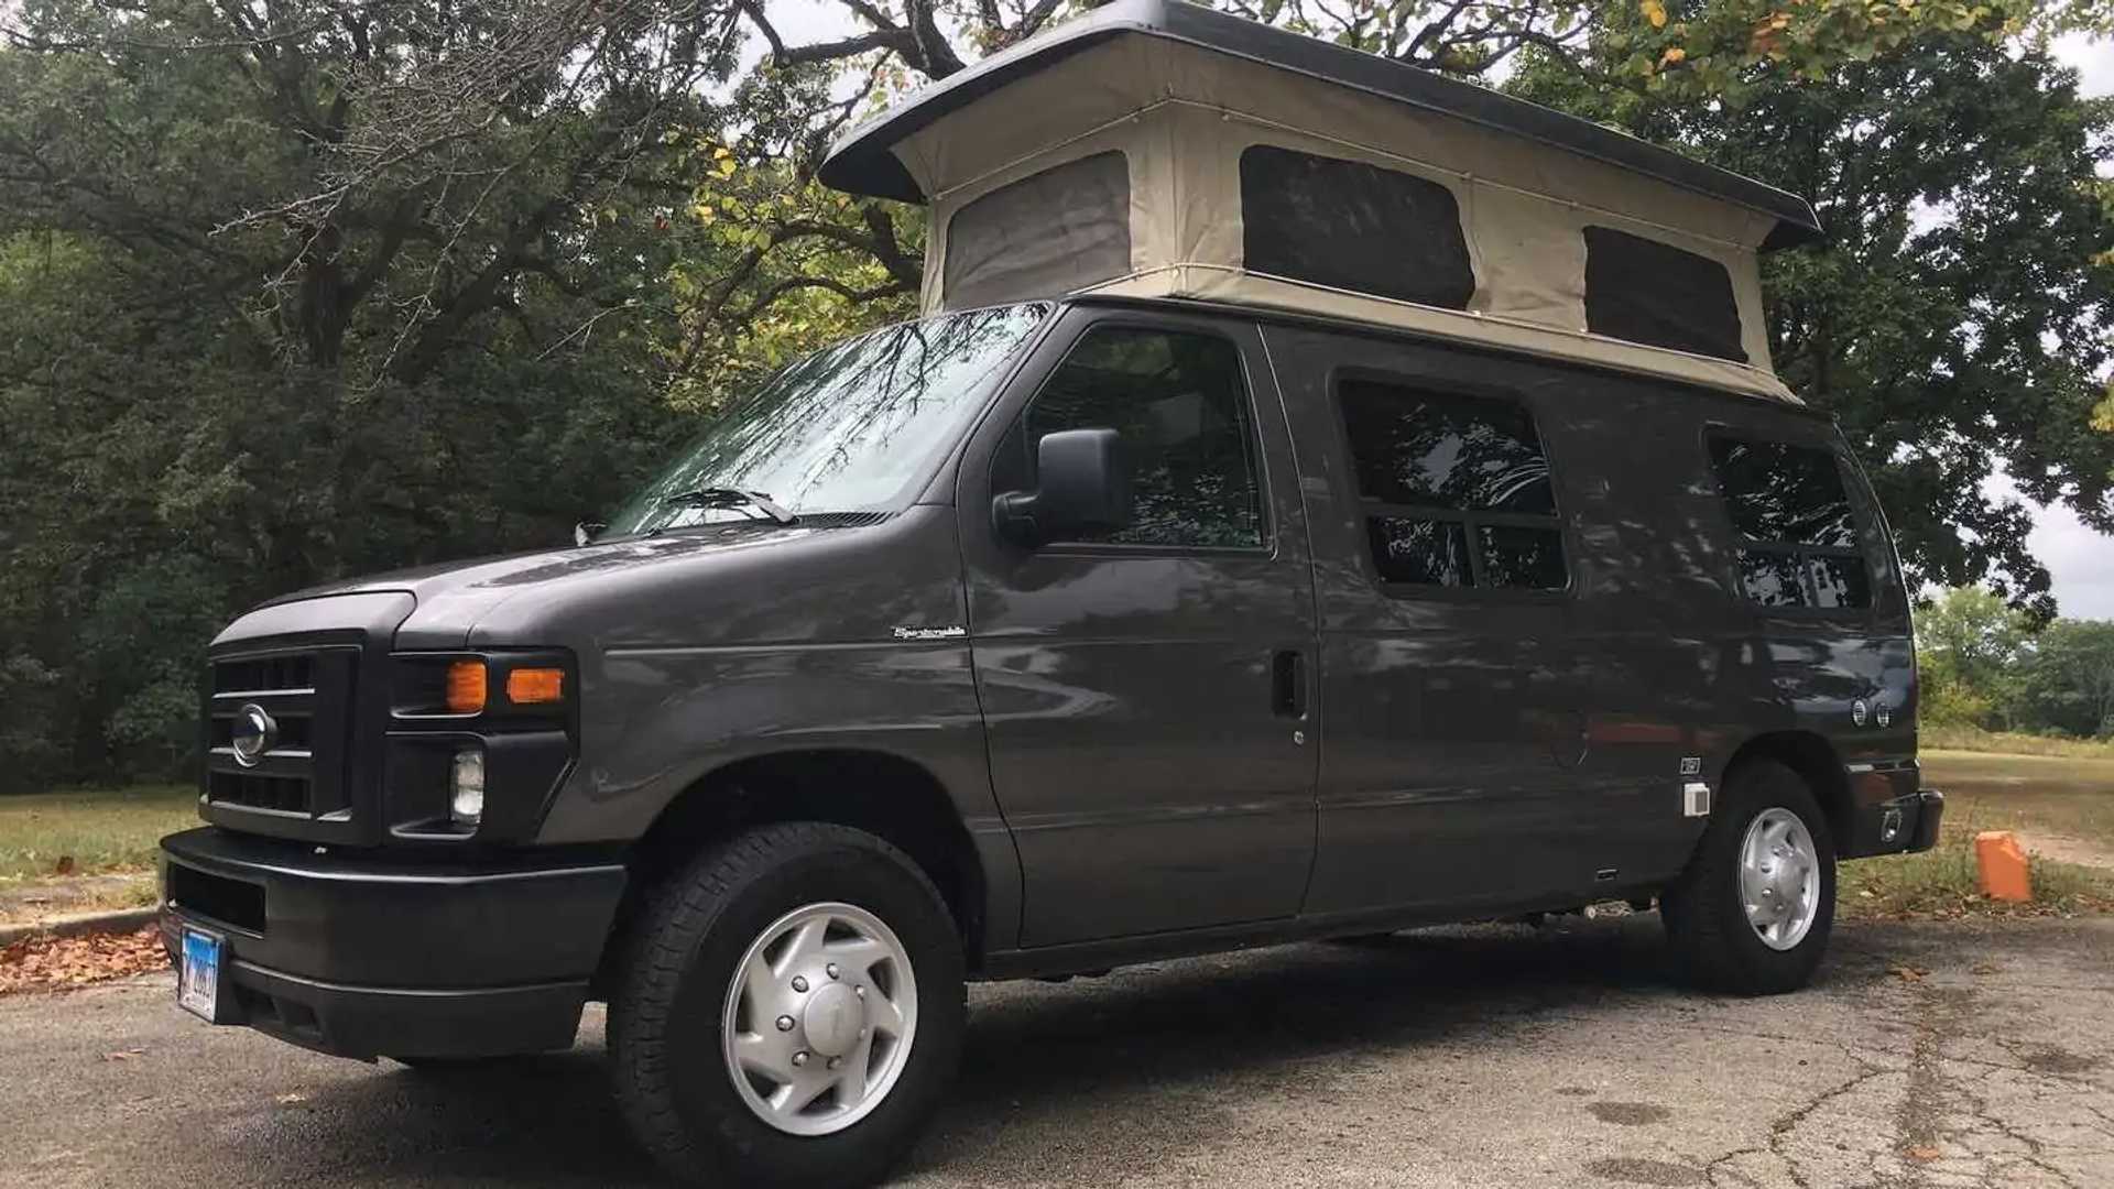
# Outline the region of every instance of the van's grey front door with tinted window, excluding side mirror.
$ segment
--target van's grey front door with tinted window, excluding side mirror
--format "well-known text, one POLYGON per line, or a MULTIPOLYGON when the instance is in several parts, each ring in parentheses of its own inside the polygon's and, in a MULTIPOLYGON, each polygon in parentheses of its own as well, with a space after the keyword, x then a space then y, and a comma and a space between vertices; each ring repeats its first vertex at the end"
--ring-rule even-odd
POLYGON ((1292 916, 1313 863, 1313 580, 1251 324, 1076 307, 979 427, 962 556, 1023 946, 1292 916), (1034 444, 1123 434, 1131 527, 1021 548, 1034 444))

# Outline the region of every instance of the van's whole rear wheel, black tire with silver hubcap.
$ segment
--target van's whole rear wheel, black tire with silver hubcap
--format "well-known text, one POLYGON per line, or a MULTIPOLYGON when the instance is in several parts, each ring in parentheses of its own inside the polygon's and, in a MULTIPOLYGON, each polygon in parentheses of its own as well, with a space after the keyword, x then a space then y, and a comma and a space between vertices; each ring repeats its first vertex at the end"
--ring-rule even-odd
POLYGON ((1805 779, 1774 760, 1733 770, 1687 870, 1659 897, 1659 916, 1698 986, 1729 994, 1805 986, 1835 925, 1835 840, 1805 779))

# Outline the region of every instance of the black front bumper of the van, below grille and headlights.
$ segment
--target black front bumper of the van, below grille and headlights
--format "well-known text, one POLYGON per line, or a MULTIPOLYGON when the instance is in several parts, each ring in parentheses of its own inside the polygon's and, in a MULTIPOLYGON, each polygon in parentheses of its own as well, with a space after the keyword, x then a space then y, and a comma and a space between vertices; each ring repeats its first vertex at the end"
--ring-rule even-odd
POLYGON ((406 863, 190 829, 163 838, 161 931, 224 941, 218 1022, 349 1058, 573 1043, 624 895, 613 857, 406 863))

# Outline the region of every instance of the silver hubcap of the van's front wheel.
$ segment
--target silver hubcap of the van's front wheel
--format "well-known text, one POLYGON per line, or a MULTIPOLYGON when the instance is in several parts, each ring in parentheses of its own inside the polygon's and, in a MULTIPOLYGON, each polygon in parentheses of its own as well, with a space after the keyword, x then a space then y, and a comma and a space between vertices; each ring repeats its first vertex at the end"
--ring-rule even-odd
POLYGON ((727 986, 727 1075, 765 1123, 827 1136, 894 1087, 917 1032, 909 952, 879 916, 810 903, 765 927, 727 986))

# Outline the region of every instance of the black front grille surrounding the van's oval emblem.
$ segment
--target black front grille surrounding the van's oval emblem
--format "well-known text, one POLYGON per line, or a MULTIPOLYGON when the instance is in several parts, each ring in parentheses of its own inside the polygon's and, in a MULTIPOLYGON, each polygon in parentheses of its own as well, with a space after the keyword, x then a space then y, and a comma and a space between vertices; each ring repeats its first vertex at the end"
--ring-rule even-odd
POLYGON ((334 645, 214 658, 205 711, 205 800, 277 819, 345 821, 357 660, 357 647, 334 645), (249 707, 271 715, 277 730, 271 749, 243 764, 235 753, 235 730, 249 707))

